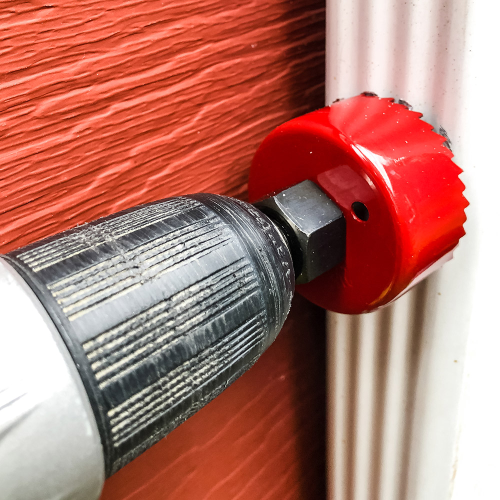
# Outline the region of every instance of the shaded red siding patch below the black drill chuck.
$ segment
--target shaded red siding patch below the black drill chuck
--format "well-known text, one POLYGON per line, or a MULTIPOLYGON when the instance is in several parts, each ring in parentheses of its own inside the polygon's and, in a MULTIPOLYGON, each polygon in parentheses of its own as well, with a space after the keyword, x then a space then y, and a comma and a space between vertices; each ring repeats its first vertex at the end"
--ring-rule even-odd
POLYGON ((111 476, 101 500, 316 500, 324 493, 324 323, 295 297, 228 389, 111 476))

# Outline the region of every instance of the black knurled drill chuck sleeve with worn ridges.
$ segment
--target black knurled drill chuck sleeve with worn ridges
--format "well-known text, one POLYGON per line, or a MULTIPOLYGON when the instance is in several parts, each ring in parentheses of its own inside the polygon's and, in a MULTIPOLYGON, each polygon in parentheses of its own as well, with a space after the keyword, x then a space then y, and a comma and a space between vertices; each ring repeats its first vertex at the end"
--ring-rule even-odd
POLYGON ((214 194, 131 208, 3 258, 71 354, 107 476, 255 362, 294 288, 289 250, 270 220, 214 194))

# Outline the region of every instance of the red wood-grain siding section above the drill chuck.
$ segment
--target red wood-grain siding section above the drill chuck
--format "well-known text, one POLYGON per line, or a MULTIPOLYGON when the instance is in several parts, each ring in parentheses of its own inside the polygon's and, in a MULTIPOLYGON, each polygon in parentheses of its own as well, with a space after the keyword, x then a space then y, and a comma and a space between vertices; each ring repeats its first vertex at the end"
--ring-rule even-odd
POLYGON ((265 134, 324 91, 319 1, 11 0, 0 32, 2 251, 192 189, 244 194, 265 134))

